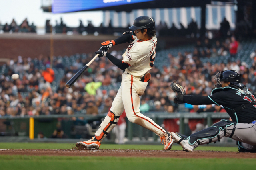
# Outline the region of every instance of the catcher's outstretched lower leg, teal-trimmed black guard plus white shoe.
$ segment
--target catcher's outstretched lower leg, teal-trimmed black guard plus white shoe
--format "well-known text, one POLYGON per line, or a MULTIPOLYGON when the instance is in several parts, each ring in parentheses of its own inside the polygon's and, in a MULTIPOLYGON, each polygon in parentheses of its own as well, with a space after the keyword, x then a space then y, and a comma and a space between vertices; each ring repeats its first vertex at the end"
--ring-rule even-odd
MULTIPOLYGON (((193 134, 189 135, 188 137, 186 137, 185 135, 181 135, 179 133, 175 133, 176 136, 179 138, 179 140, 174 139, 174 142, 180 144, 183 140, 186 140, 185 143, 187 143, 187 145, 192 146, 192 148, 194 150, 196 147, 198 147, 198 145, 204 145, 204 144, 208 144, 211 142, 216 143, 216 141, 220 141, 220 139, 226 135, 226 128, 231 125, 234 125, 233 131, 229 136, 231 138, 233 136, 235 128, 236 128, 236 126, 235 126, 236 122, 232 122, 228 119, 222 119, 221 121, 214 123, 211 127, 208 127, 202 131, 193 133, 193 134)), ((182 143, 184 143, 184 142, 182 142, 182 143)))

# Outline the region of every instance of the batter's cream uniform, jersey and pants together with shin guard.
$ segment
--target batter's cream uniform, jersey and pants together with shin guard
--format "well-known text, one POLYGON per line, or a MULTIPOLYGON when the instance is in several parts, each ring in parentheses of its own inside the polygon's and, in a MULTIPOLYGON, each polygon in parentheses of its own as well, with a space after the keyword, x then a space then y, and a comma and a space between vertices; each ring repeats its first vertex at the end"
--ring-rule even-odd
POLYGON ((159 137, 166 131, 156 124, 152 119, 140 113, 140 96, 146 90, 148 82, 141 81, 141 76, 150 70, 156 56, 156 37, 146 41, 139 41, 132 36, 134 41, 128 46, 123 54, 123 62, 129 65, 122 75, 121 87, 110 108, 108 115, 100 124, 100 128, 95 133, 98 141, 102 141, 108 133, 116 126, 119 116, 125 110, 128 120, 146 129, 151 130, 159 137), (110 123, 114 119, 114 123, 110 123))

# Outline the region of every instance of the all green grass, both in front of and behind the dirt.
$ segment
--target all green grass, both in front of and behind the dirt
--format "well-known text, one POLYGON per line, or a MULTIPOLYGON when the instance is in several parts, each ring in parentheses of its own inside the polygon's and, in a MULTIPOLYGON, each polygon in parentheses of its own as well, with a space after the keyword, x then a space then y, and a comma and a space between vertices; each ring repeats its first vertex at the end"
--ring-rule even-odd
MULTIPOLYGON (((0 149, 72 149, 68 143, 0 143, 0 149)), ((163 145, 102 144, 100 149, 154 149, 163 145)), ((181 150, 179 145, 173 149, 181 150)), ((236 147, 199 146, 196 150, 237 151, 236 147)), ((1 152, 1 151, 0 151, 1 152)), ((211 154, 211 153, 208 153, 211 154)), ((0 170, 241 170, 254 169, 256 159, 236 158, 138 158, 106 156, 0 155, 0 170)))

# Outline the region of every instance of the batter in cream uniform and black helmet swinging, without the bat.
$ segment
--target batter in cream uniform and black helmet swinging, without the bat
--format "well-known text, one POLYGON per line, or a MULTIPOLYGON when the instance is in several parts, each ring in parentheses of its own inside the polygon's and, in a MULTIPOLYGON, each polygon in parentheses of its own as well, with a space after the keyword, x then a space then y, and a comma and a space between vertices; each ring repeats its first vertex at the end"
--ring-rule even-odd
POLYGON ((115 40, 103 42, 100 50, 95 52, 99 57, 108 57, 113 64, 123 70, 122 83, 108 115, 100 124, 94 137, 88 141, 76 143, 79 149, 99 149, 100 142, 116 126, 124 110, 130 122, 156 133, 164 144, 164 150, 170 150, 172 147, 173 139, 170 132, 166 132, 152 119, 141 114, 139 109, 139 96, 144 93, 150 79, 150 73, 147 71, 154 66, 156 57, 155 22, 148 16, 140 16, 134 20, 133 26, 129 29, 134 31, 127 31, 115 40), (107 52, 114 45, 130 41, 132 43, 123 54, 122 61, 107 52))

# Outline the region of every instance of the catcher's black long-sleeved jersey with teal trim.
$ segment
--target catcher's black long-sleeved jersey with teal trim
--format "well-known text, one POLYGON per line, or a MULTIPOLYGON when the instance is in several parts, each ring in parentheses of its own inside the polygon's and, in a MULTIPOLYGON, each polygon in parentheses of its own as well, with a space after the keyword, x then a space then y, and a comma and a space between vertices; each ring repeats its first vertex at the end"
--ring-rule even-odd
POLYGON ((255 102, 256 94, 234 87, 215 88, 209 96, 184 96, 183 101, 193 105, 216 104, 222 105, 231 119, 238 123, 251 123, 256 120, 256 103, 239 111, 237 107, 255 102))

